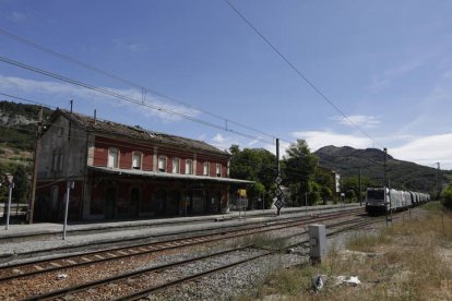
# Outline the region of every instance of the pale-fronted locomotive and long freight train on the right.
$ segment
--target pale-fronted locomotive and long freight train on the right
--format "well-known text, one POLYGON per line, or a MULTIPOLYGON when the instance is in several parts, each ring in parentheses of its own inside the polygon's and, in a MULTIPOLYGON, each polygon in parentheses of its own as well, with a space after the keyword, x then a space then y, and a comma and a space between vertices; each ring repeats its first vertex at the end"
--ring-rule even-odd
POLYGON ((368 188, 366 190, 366 212, 369 215, 386 214, 412 208, 430 201, 430 194, 396 189, 368 188))

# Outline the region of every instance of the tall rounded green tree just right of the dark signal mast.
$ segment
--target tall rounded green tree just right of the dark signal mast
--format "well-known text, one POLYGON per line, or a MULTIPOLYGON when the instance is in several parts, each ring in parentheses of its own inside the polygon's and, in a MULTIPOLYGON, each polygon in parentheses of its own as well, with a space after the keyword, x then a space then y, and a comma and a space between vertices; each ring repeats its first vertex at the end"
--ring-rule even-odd
MULTIPOLYGON (((284 184, 290 188, 295 204, 304 204, 305 193, 309 195, 311 192, 310 182, 318 162, 319 159, 311 154, 305 140, 297 140, 286 149, 283 158, 284 184)), ((310 205, 316 202, 316 197, 308 197, 310 205)))

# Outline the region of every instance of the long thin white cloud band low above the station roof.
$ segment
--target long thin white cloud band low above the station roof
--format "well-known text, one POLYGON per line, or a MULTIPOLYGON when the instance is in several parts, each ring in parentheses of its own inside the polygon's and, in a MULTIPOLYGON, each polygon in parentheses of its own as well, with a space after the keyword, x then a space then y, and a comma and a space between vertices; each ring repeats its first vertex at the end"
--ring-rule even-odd
POLYGON ((35 81, 3 75, 0 75, 0 88, 4 93, 10 93, 13 95, 17 93, 33 95, 33 100, 36 100, 35 97, 38 96, 43 99, 76 98, 91 101, 108 101, 109 105, 126 106, 145 116, 158 117, 163 121, 179 121, 183 118, 180 115, 190 118, 194 118, 200 115, 197 109, 171 104, 169 100, 166 101, 166 99, 163 98, 148 96, 142 103, 142 93, 136 89, 116 89, 109 87, 100 87, 102 89, 106 89, 135 100, 135 103, 131 103, 124 99, 110 97, 102 93, 93 92, 67 83, 35 81), (136 101, 145 104, 146 106, 141 106, 140 104, 136 104, 136 101))

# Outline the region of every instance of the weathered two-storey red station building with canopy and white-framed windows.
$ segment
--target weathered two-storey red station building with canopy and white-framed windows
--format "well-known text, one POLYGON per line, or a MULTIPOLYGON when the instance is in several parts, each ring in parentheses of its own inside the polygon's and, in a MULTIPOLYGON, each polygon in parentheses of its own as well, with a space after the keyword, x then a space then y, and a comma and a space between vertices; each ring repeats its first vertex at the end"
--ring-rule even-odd
POLYGON ((229 155, 204 142, 57 110, 40 137, 35 219, 215 214, 228 209, 229 155))

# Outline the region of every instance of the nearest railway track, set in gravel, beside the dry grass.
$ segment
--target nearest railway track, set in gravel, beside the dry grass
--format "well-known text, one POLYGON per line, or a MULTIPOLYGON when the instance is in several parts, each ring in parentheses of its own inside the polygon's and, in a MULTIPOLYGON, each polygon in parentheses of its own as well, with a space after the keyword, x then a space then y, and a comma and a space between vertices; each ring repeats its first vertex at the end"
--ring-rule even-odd
MULTIPOLYGON (((380 219, 365 220, 364 218, 357 218, 354 220, 340 221, 329 225, 329 229, 334 229, 341 226, 344 228, 331 231, 329 236, 341 233, 345 230, 349 230, 354 227, 360 227, 362 225, 369 225, 372 222, 381 221, 380 219)), ((309 240, 302 240, 297 245, 304 245, 309 240)), ((290 246, 290 245, 289 245, 290 246)), ((78 286, 73 286, 66 289, 55 290, 51 292, 36 294, 27 298, 26 300, 50 300, 58 298, 70 298, 73 300, 81 299, 108 299, 108 300, 138 300, 147 298, 150 294, 156 293, 164 289, 192 281, 194 279, 206 277, 211 274, 221 273, 225 269, 235 267, 237 265, 250 263, 252 261, 269 256, 284 250, 261 250, 254 245, 245 245, 240 248, 234 248, 226 251, 215 252, 207 255, 197 256, 185 261, 178 261, 169 264, 158 265, 154 267, 143 268, 141 270, 134 270, 130 273, 123 273, 114 277, 105 278, 98 281, 91 281, 78 286), (235 255, 235 260, 228 258, 234 253, 245 253, 241 256, 235 255), (203 262, 204 266, 209 266, 205 270, 198 273, 185 274, 183 267, 190 264, 197 264, 203 262), (209 263, 206 263, 209 262, 209 263), (226 263, 226 264, 225 264, 226 263)))

